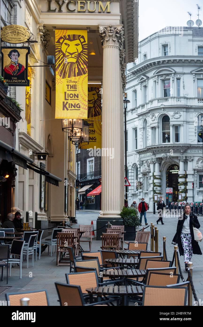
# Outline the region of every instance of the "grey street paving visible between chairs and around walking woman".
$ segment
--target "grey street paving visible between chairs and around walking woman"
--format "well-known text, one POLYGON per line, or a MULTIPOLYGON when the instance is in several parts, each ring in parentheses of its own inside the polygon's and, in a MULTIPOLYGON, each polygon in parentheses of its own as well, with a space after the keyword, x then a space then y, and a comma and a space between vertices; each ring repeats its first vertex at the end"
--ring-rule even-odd
MULTIPOLYGON (((96 229, 96 221, 99 216, 99 211, 76 211, 77 225, 89 225, 91 220, 94 224, 94 229, 96 229)), ((152 222, 155 226, 157 215, 151 213, 147 214, 148 224, 152 222)), ((203 233, 203 217, 198 217, 200 222, 200 231, 203 233)), ((176 233, 176 227, 178 218, 163 218, 164 225, 158 224, 157 229, 159 231, 159 251, 163 253, 163 236, 166 236, 166 253, 167 259, 172 260, 174 245, 171 244, 173 236, 176 233)), ((142 221, 142 227, 145 227, 144 217, 142 221)), ((142 227, 137 228, 137 230, 142 227)), ((150 231, 150 227, 146 229, 150 231)), ((96 232, 95 232, 96 234, 96 232)), ((134 240, 132 240, 134 241, 134 240)), ((88 249, 88 243, 81 243, 84 250, 88 249)), ((203 252, 203 242, 199 242, 201 251, 203 252)), ((93 238, 91 251, 98 251, 101 247, 101 241, 96 241, 93 238)), ((126 246, 127 247, 127 246, 126 246)), ((150 250, 150 239, 148 243, 148 249, 150 250)), ((203 255, 193 255, 192 260, 194 264, 193 269, 193 281, 195 286, 195 291, 198 300, 202 301, 203 305, 203 255)), ((29 259, 29 266, 31 266, 31 256, 29 259)), ((187 273, 184 271, 184 261, 183 256, 180 257, 180 264, 182 267, 183 277, 187 278, 187 273)), ((8 290, 0 294, 0 301, 5 301, 6 292, 26 292, 34 291, 40 289, 47 289, 50 305, 59 305, 57 292, 55 289, 55 282, 66 283, 65 273, 69 272, 69 266, 56 266, 56 252, 54 252, 51 257, 47 252, 42 253, 41 259, 34 262, 34 267, 26 268, 26 261, 23 262, 22 269, 22 279, 20 279, 19 267, 13 267, 11 269, 11 277, 8 277, 8 285, 6 284, 6 269, 4 269, 4 281, 0 281, 0 286, 10 286, 8 290)))

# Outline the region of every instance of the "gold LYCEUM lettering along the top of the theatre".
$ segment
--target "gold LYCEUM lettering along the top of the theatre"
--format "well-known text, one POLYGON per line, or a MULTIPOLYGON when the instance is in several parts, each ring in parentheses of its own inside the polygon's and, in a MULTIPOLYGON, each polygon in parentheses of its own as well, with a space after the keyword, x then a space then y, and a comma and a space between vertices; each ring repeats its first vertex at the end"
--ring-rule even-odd
POLYGON ((111 1, 48 0, 47 12, 111 12, 111 1))

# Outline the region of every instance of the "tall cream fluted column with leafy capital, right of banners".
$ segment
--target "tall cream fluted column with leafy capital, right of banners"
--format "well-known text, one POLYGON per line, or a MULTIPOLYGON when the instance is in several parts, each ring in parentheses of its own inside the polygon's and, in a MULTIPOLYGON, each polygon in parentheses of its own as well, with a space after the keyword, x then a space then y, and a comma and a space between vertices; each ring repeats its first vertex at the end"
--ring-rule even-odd
POLYGON ((119 25, 100 26, 99 30, 103 47, 102 148, 114 153, 112 158, 101 158, 100 218, 119 218, 124 205, 124 127, 120 67, 123 29, 119 25))

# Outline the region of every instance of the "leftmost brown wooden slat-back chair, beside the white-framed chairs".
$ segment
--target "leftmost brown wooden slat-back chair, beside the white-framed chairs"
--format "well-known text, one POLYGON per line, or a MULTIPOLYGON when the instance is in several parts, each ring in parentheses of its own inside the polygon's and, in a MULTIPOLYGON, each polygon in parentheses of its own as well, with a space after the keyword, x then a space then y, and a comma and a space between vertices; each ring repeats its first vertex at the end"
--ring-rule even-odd
POLYGON ((74 248, 74 233, 57 233, 56 263, 57 266, 69 265, 68 246, 74 248))

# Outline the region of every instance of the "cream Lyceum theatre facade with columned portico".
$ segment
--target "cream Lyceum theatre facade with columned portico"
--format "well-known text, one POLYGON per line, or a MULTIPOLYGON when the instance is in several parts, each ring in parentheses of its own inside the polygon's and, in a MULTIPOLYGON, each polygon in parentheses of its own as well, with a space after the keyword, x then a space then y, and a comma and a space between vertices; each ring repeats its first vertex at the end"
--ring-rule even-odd
MULTIPOLYGON (((125 66, 137 57, 138 3, 25 0, 14 6, 12 24, 26 26, 32 42, 24 44, 30 47, 29 89, 10 87, 10 95, 16 96, 23 109, 13 146, 28 158, 26 167, 16 166, 11 211, 20 210, 24 221, 27 216, 35 227, 75 216, 75 146, 62 131, 62 119, 55 119, 55 108, 61 100, 55 89, 60 80, 51 74, 47 56, 55 56, 57 31, 82 30, 87 32, 88 83, 102 84, 102 147, 114 148, 115 153, 112 160, 101 158, 100 218, 119 217, 124 205, 125 66), (38 152, 48 153, 47 160, 38 160, 38 152)), ((69 51, 74 56, 77 52, 82 58, 84 53, 79 56, 75 46, 76 50, 67 50, 66 45, 64 53, 69 51)), ((51 68, 55 73, 55 66, 51 68)), ((70 108, 63 109, 68 112, 70 108)))

